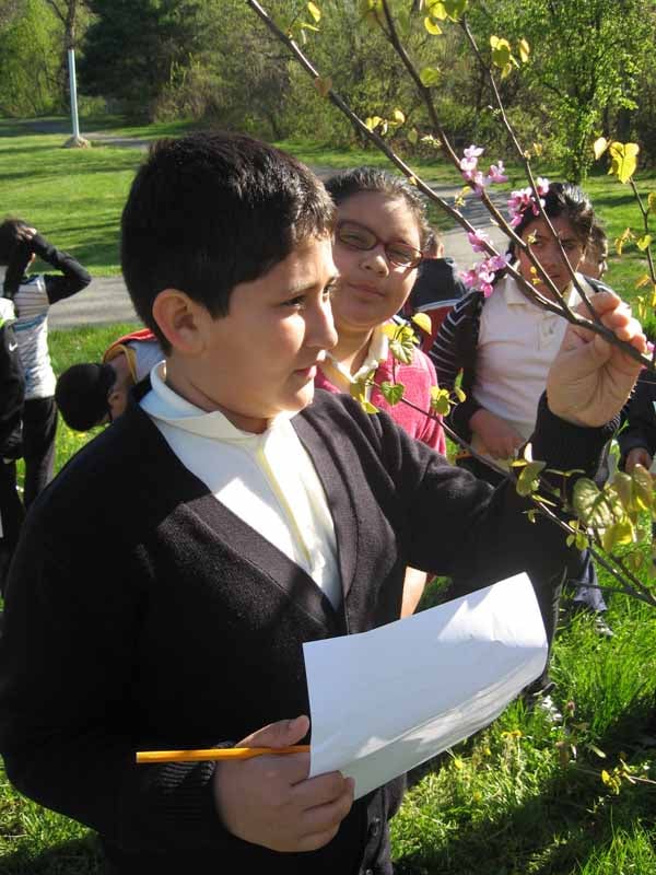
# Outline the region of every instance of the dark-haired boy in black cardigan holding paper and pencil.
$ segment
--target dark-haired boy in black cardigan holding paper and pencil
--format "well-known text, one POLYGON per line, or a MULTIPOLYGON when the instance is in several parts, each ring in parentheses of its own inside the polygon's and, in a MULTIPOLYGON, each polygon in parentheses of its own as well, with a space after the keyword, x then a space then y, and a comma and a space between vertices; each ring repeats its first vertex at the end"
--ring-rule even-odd
MULTIPOLYGON (((303 643, 398 619, 408 564, 483 586, 579 560, 512 487, 347 396, 313 400, 332 218, 307 168, 235 135, 162 141, 132 185, 122 268, 166 361, 30 514, 0 639, 10 780, 96 829, 114 873, 389 875, 399 779, 353 802, 307 754, 134 751, 302 742, 303 643)), ((644 350, 617 296, 595 306, 644 350)), ((590 472, 637 370, 571 328, 534 455, 590 472)))

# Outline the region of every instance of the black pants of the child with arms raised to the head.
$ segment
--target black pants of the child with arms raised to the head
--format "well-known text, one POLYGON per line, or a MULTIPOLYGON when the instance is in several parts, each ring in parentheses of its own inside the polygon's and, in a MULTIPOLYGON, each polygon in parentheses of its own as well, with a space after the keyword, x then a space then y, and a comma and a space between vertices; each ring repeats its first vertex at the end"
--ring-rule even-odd
POLYGON ((52 479, 55 470, 55 398, 31 398, 23 407, 23 458, 25 459, 25 508, 52 479))

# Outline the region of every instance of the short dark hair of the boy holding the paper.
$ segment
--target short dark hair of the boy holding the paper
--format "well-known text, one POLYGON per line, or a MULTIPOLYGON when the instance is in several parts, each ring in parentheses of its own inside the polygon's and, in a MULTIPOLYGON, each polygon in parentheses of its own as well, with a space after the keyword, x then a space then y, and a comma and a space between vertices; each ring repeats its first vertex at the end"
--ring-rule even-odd
POLYGON ((271 145, 225 132, 160 140, 122 212, 121 265, 134 308, 169 352, 152 315, 161 291, 179 289, 225 316, 235 285, 330 234, 333 213, 320 180, 271 145))

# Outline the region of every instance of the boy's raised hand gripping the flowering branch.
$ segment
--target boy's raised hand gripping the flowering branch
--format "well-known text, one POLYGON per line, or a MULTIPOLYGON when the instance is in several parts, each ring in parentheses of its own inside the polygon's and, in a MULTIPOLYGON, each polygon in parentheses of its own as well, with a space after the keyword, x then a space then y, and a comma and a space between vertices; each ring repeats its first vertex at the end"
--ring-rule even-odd
MULTIPOLYGON (((620 340, 640 352, 647 348, 637 319, 613 292, 599 292, 590 303, 620 340)), ((585 314, 587 307, 579 306, 585 314)), ((575 425, 599 427, 622 409, 641 371, 641 363, 599 335, 569 325, 560 351, 549 369, 549 407, 575 425)))

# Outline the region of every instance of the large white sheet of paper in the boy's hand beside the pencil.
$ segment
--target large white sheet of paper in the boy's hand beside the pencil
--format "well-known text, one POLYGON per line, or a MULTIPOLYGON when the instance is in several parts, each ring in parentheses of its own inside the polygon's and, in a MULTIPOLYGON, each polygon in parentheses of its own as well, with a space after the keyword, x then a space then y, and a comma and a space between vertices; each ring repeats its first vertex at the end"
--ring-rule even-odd
POLYGON ((311 775, 339 770, 355 797, 491 723, 547 662, 526 574, 371 632, 303 645, 311 775))

